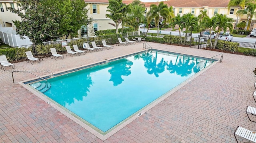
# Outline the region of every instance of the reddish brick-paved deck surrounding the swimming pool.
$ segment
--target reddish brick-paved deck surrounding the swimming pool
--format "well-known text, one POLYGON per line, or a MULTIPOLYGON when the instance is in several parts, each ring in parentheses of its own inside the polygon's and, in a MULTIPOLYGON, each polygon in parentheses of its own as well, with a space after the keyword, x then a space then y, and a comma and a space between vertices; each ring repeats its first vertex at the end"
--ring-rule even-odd
MULTIPOLYGON (((14 70, 31 70, 34 74, 46 76, 141 51, 142 43, 125 47, 114 45, 114 49, 105 48, 78 57, 64 55, 64 59, 58 61, 44 58, 34 65, 15 63, 14 70)), ((200 57, 210 58, 220 53, 149 44, 154 49, 200 57)), ((256 57, 223 55, 222 63, 206 69, 104 141, 18 83, 35 78, 34 75, 14 73, 13 83, 13 69, 0 69, 0 143, 236 143, 233 133, 238 125, 256 130, 256 123, 250 121, 245 112, 247 106, 256 107, 252 97, 256 57)), ((154 88, 150 83, 142 86, 154 88)), ((256 116, 251 119, 256 120, 256 116)))

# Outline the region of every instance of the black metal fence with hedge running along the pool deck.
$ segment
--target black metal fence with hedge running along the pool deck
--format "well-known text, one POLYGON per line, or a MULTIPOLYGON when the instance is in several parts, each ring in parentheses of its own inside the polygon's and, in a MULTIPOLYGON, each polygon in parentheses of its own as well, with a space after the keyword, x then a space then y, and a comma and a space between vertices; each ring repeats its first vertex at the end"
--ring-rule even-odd
MULTIPOLYGON (((44 42, 42 44, 36 45, 23 45, 17 47, 4 47, 0 48, 0 55, 6 55, 7 59, 11 63, 25 61, 27 59, 25 52, 32 51, 34 57, 50 57, 51 52, 50 48, 56 48, 57 53, 65 54, 66 48, 65 45, 69 45, 73 49, 72 45, 78 45, 80 50, 83 50, 83 43, 88 42, 91 44, 91 41, 95 41, 96 45, 102 45, 101 40, 105 40, 108 45, 113 45, 118 42, 118 37, 121 37, 124 41, 124 37, 145 37, 144 33, 129 32, 129 33, 120 33, 112 35, 102 35, 102 36, 93 36, 93 37, 83 37, 76 39, 66 39, 60 41, 44 42)), ((179 45, 184 47, 198 48, 198 49, 208 49, 215 51, 222 51, 227 53, 241 54, 241 55, 250 55, 256 56, 256 43, 246 43, 246 42, 227 42, 218 40, 216 48, 213 49, 214 39, 202 39, 200 37, 191 37, 188 35, 185 39, 184 35, 181 35, 182 42, 180 41, 180 36, 178 35, 168 35, 168 34, 159 34, 148 33, 145 41, 169 44, 169 45, 179 45)))

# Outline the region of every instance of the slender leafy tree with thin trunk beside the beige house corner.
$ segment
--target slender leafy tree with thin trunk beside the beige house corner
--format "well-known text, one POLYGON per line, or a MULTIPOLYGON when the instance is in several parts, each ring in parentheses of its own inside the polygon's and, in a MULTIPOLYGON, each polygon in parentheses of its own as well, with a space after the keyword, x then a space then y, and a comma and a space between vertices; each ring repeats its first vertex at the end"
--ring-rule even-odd
POLYGON ((108 23, 116 27, 116 33, 118 33, 118 25, 122 22, 127 5, 122 3, 122 0, 108 0, 108 9, 106 10, 110 14, 106 14, 107 18, 114 21, 114 24, 108 23))

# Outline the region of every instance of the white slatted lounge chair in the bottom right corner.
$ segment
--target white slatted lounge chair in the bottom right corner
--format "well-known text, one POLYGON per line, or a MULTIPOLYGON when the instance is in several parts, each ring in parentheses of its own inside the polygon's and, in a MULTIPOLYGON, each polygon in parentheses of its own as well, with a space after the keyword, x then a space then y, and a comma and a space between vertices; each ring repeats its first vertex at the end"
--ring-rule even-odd
MULTIPOLYGON (((248 129, 245 129, 243 127, 237 127, 236 131, 234 132, 234 136, 236 138, 236 135, 243 137, 244 139, 248 139, 250 141, 253 141, 256 143, 256 133, 255 131, 250 131, 248 129)), ((238 140, 236 139, 236 142, 238 143, 238 140)))

